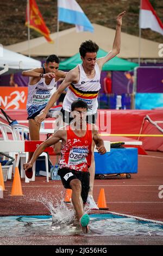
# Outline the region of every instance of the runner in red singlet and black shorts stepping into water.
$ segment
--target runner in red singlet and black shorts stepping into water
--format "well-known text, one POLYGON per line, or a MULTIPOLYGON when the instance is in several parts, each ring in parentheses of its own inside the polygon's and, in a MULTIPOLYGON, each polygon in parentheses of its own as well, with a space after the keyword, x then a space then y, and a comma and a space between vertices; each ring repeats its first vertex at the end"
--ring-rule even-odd
POLYGON ((24 164, 28 172, 34 161, 46 147, 56 144, 60 140, 61 158, 58 174, 65 188, 72 189, 72 203, 76 211, 77 220, 84 233, 89 231, 89 215, 84 214, 83 204, 86 203, 90 187, 89 167, 92 157, 92 141, 95 142, 100 154, 105 154, 104 142, 98 135, 94 124, 86 123, 87 103, 82 100, 74 101, 71 105, 74 116, 70 125, 60 128, 54 135, 43 142, 33 154, 29 163, 24 164))

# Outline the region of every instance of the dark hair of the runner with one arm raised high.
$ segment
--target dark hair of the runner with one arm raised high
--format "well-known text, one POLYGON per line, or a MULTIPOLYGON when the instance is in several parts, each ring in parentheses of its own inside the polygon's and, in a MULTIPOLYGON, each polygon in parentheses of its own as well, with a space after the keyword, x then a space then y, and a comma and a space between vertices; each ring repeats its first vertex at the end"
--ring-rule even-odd
POLYGON ((92 42, 92 40, 87 40, 82 42, 79 48, 80 56, 85 57, 87 52, 98 52, 99 47, 96 42, 92 42))

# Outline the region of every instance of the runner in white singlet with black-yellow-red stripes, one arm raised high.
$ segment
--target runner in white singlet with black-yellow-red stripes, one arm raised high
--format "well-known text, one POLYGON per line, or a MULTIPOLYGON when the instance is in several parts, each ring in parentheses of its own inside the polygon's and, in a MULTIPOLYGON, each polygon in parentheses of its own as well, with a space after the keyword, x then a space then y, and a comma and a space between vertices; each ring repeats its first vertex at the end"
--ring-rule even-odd
MULTIPOLYGON (((117 16, 116 33, 112 50, 105 57, 97 59, 99 47, 91 40, 85 41, 80 45, 79 52, 82 59, 82 65, 78 65, 76 68, 68 72, 65 80, 61 83, 58 90, 52 95, 47 106, 35 118, 36 122, 41 123, 41 121, 45 119, 49 108, 53 106, 53 104, 59 99, 61 93, 68 86, 68 92, 65 96, 61 109, 63 121, 65 121, 65 123, 70 123, 71 104, 74 100, 82 99, 88 105, 87 121, 91 123, 96 122, 98 108, 97 97, 99 89, 101 89, 99 80, 102 66, 120 53, 122 17, 125 13, 126 11, 123 11, 123 13, 117 16)), ((95 144, 92 147, 95 147, 95 144)), ((93 154, 89 172, 91 175, 90 192, 87 202, 91 209, 98 209, 92 197, 95 178, 95 160, 93 158, 93 154)))

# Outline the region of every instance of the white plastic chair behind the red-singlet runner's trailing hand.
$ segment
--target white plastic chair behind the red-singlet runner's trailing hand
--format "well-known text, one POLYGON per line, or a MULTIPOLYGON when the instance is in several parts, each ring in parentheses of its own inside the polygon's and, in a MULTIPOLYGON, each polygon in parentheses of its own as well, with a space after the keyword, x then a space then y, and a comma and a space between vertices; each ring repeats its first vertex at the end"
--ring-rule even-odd
MULTIPOLYGON (((25 125, 19 125, 19 124, 15 124, 12 125, 12 129, 14 130, 15 134, 16 134, 16 140, 17 141, 24 141, 24 133, 28 136, 29 134, 29 128, 28 126, 25 125)), ((49 181, 49 176, 48 176, 48 156, 45 152, 43 152, 40 156, 45 156, 45 166, 46 166, 46 180, 47 182, 49 181)), ((30 180, 35 181, 35 165, 36 163, 34 162, 33 164, 33 176, 32 179, 28 179, 27 176, 25 175, 24 169, 23 169, 23 163, 27 163, 28 161, 28 153, 27 152, 23 152, 23 153, 19 153, 18 157, 17 157, 17 161, 16 161, 16 166, 18 166, 19 162, 20 162, 20 157, 23 159, 23 161, 21 161, 21 178, 25 178, 25 182, 29 182, 30 180)))

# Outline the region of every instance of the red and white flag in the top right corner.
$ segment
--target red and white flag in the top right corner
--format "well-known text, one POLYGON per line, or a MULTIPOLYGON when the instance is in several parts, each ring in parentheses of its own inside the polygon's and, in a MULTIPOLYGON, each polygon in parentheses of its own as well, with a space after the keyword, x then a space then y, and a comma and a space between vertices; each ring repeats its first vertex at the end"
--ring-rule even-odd
POLYGON ((163 35, 163 23, 159 19, 158 15, 156 15, 156 12, 149 0, 141 0, 139 27, 151 28, 152 31, 163 35))

